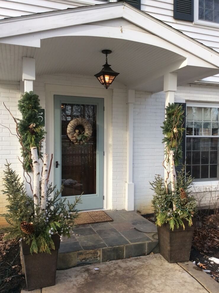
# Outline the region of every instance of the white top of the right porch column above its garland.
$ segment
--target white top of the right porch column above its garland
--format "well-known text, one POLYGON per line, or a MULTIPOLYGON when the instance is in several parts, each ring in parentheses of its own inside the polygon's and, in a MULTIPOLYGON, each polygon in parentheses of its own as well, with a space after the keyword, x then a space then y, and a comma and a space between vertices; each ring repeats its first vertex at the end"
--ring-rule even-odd
POLYGON ((166 93, 165 108, 168 103, 174 103, 175 91, 177 89, 177 73, 166 73, 164 75, 163 91, 166 93))

